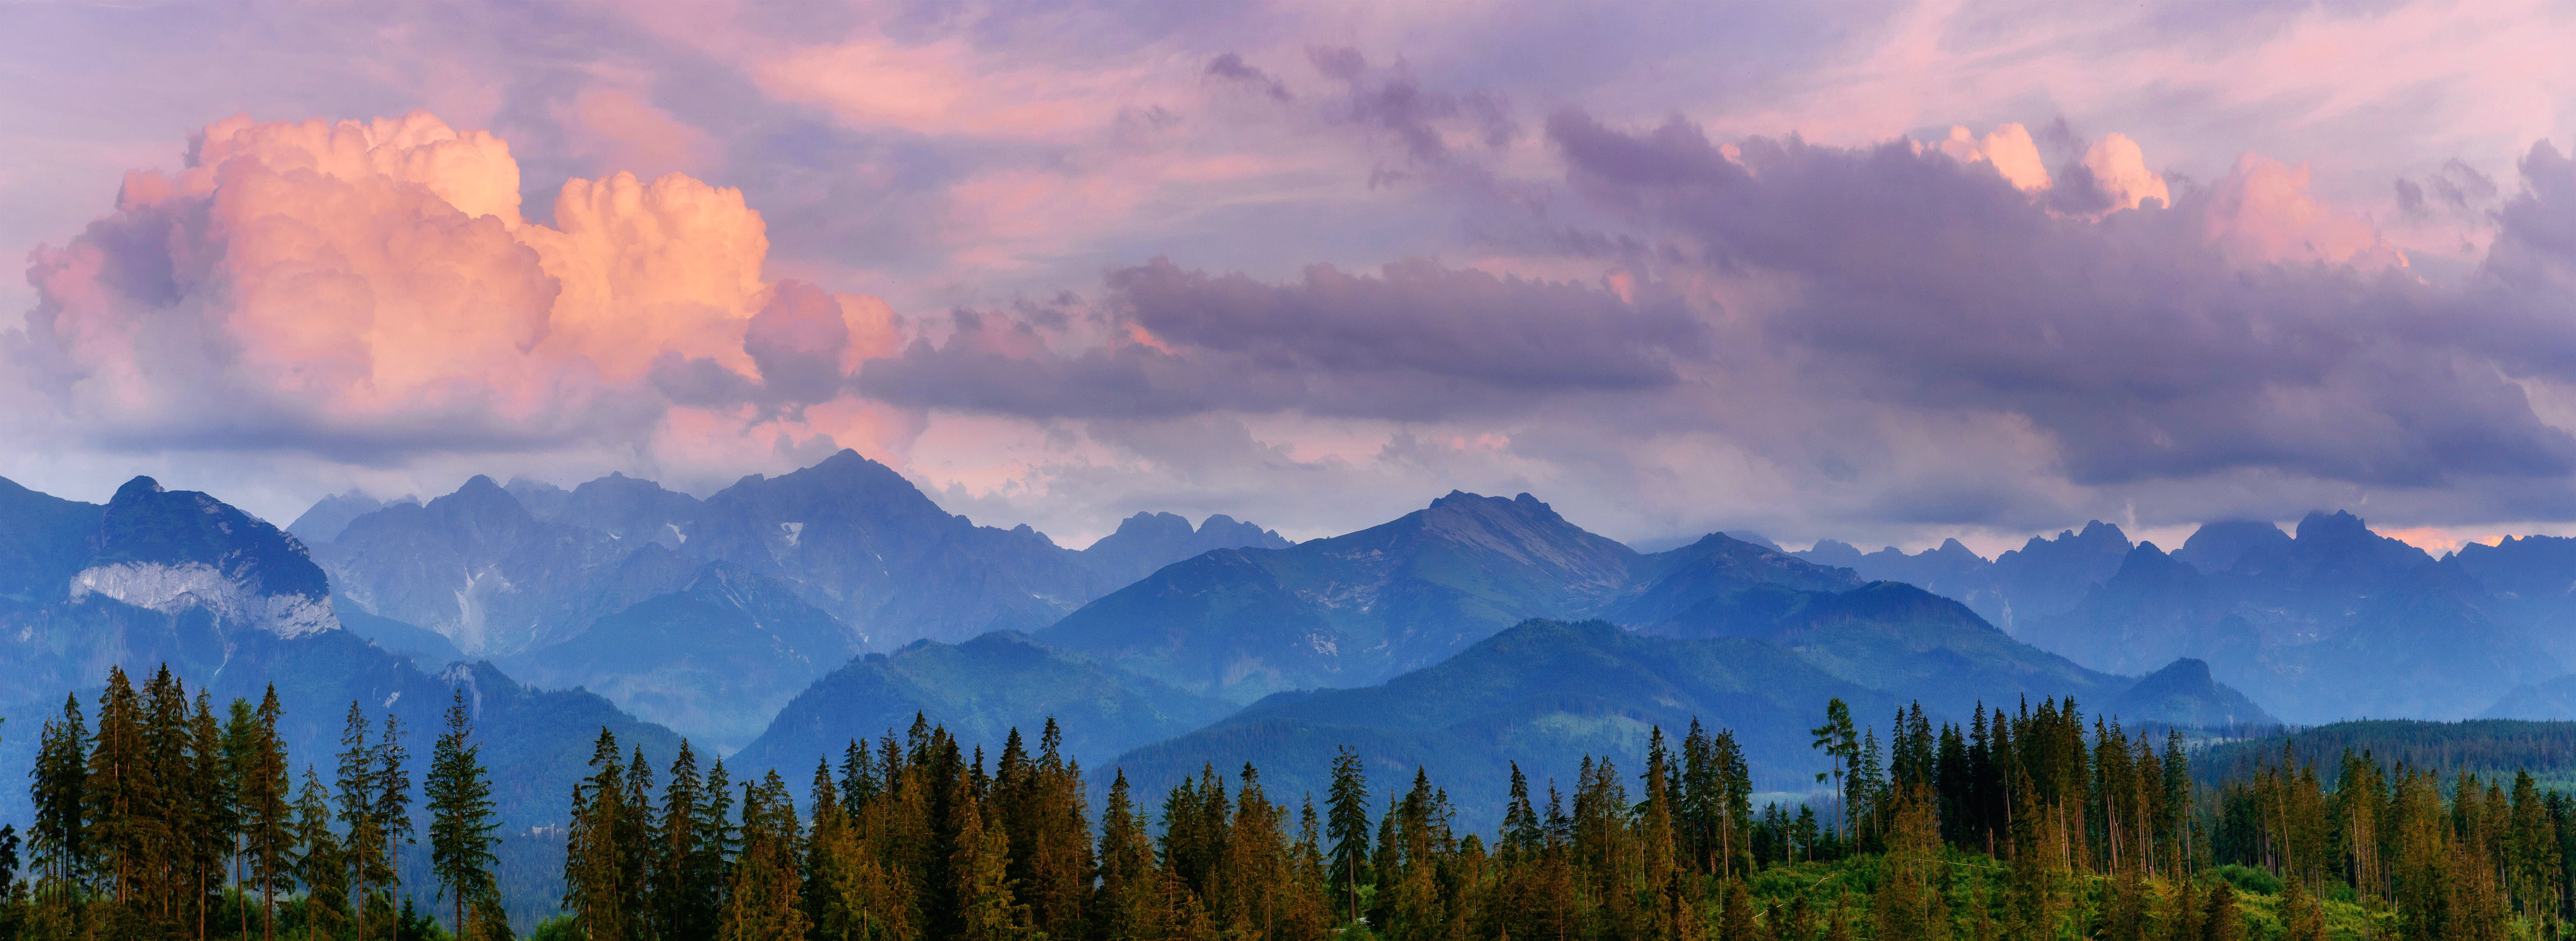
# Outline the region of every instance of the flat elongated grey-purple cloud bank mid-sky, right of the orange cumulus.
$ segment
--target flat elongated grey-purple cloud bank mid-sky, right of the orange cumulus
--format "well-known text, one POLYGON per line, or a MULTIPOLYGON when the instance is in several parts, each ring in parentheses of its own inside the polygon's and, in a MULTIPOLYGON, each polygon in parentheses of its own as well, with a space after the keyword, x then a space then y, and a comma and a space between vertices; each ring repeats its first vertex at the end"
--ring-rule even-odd
MULTIPOLYGON (((1651 291, 1649 291, 1651 294, 1651 291)), ((1376 276, 1311 266, 1296 284, 1185 271, 1164 258, 1108 276, 1139 343, 1054 353, 1046 333, 961 312, 940 345, 871 361, 860 389, 896 405, 1033 418, 1298 410, 1453 418, 1556 394, 1643 392, 1708 358, 1682 304, 1602 286, 1404 260, 1376 276)))

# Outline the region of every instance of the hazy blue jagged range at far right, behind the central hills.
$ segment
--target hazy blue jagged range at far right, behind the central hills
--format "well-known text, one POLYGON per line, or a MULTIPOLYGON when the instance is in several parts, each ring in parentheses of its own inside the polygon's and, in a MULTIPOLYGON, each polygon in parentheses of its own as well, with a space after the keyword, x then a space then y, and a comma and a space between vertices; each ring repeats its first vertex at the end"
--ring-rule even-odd
MULTIPOLYGON (((2576 655, 2576 541, 2530 536, 2434 557, 2352 513, 2308 513, 2293 531, 2262 521, 2200 526, 2179 549, 2130 544, 2089 523, 1986 562, 1940 549, 1803 557, 1873 575, 1922 572, 1960 601, 2009 611, 2014 637, 2112 673, 2205 660, 2221 683, 2259 691, 2282 719, 2465 719, 2561 678, 2576 655)), ((2576 712, 2571 712, 2576 714, 2576 712)))

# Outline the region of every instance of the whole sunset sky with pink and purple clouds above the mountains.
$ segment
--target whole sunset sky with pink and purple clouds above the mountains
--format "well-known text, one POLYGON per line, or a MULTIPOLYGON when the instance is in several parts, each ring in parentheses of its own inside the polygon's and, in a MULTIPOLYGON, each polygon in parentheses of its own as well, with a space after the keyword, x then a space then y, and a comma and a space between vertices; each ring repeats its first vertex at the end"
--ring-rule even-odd
POLYGON ((0 5, 0 477, 2576 521, 2576 8, 0 5))

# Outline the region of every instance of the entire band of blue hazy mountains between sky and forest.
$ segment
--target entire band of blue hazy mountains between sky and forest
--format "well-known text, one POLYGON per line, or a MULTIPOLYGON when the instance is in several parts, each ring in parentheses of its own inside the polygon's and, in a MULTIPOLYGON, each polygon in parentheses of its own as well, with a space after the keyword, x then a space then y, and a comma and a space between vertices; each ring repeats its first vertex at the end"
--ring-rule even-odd
MULTIPOLYGON (((276 681, 319 755, 350 699, 425 730, 469 688, 528 781, 513 825, 559 812, 600 724, 742 779, 914 717, 987 750, 1056 717, 1095 784, 1257 761, 1311 786, 1352 745, 1440 766, 1484 812, 1507 755, 1571 773, 1636 761, 1651 727, 1783 730, 1826 699, 1865 724, 2045 696, 2133 727, 2576 714, 2568 583, 2576 541, 2434 559, 2344 513, 2213 523, 2172 554, 2107 523, 1996 559, 1728 534, 1636 552, 1471 492, 1303 544, 1139 513, 1074 552, 850 451, 708 498, 618 474, 335 495, 289 531, 149 480, 108 505, 0 485, 0 665, 26 678, 0 709, 33 730, 108 665, 170 663, 227 699, 276 681)), ((1803 740, 1744 745, 1765 786, 1819 766, 1803 740)))

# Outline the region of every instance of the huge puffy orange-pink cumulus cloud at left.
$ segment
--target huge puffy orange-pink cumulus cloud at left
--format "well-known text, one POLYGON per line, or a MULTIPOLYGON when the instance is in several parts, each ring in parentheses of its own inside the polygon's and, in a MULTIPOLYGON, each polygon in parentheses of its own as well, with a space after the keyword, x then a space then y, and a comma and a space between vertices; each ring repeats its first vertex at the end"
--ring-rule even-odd
POLYGON ((129 173, 111 214, 36 250, 39 304, 0 343, 72 436, 358 464, 652 451, 672 402, 721 412, 698 433, 739 431, 775 410, 726 410, 827 402, 896 345, 881 302, 768 284, 739 191, 567 180, 554 224, 518 193, 505 142, 422 111, 227 119, 183 170, 129 173), (703 364, 696 387, 665 361, 703 364))

